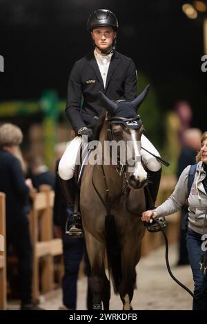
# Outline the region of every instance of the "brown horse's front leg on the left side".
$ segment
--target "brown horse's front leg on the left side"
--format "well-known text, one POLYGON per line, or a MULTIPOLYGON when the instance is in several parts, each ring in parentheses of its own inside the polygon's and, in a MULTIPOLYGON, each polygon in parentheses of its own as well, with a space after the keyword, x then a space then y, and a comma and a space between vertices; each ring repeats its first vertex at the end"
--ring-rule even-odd
POLYGON ((105 245, 100 243, 85 230, 86 247, 88 259, 90 261, 91 274, 89 279, 90 290, 92 292, 93 310, 109 310, 110 282, 108 281, 104 268, 105 245))

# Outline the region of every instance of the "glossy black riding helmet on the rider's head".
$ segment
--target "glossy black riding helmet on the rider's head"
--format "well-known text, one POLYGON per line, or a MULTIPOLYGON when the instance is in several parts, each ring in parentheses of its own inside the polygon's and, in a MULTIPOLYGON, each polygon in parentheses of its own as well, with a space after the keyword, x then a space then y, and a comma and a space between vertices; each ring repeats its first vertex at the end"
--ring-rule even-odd
POLYGON ((116 31, 119 24, 115 14, 106 9, 98 9, 92 12, 88 17, 88 30, 91 32, 93 28, 101 26, 111 26, 116 31))

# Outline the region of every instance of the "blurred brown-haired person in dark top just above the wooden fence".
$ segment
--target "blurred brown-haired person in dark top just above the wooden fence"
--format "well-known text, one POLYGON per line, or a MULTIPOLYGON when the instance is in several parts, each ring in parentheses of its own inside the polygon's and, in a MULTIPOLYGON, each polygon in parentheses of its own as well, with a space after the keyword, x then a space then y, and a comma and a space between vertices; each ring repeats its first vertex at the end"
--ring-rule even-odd
POLYGON ((48 170, 41 156, 33 156, 30 162, 31 179, 34 188, 39 190, 40 185, 50 185, 55 188, 55 174, 48 170))

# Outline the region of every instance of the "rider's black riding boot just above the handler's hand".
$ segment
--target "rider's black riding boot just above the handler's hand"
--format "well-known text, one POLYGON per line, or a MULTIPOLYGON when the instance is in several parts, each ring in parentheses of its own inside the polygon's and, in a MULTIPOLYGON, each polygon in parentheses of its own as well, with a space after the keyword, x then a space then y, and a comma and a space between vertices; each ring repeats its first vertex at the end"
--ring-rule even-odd
POLYGON ((148 190, 151 196, 150 209, 155 209, 155 201, 159 190, 159 183, 161 179, 161 169, 156 172, 148 170, 148 190))

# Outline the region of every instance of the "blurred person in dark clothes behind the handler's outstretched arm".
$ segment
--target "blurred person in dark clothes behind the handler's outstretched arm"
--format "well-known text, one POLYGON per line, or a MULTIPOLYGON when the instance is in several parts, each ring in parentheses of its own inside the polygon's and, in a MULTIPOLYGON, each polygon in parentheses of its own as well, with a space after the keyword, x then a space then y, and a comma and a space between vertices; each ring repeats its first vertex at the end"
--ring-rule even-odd
MULTIPOLYGON (((201 148, 201 130, 199 128, 188 128, 183 134, 184 146, 179 154, 177 164, 177 179, 188 165, 196 163, 197 152, 201 148)), ((189 264, 188 251, 186 247, 186 229, 184 227, 184 215, 186 214, 186 207, 181 210, 181 227, 179 233, 179 258, 177 265, 189 264)))

